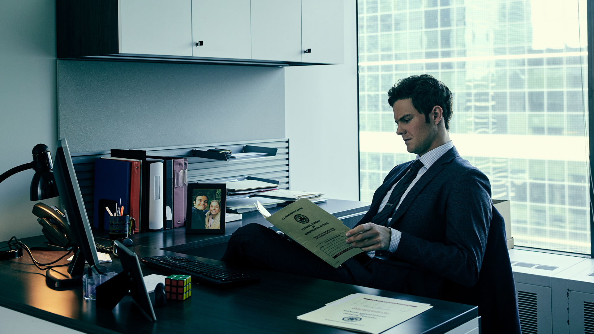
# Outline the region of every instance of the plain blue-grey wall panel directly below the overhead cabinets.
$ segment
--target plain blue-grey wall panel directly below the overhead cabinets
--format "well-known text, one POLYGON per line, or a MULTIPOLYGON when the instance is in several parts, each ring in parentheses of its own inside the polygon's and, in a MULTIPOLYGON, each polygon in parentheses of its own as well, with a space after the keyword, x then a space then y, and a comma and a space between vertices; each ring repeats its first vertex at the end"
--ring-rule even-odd
POLYGON ((71 152, 285 137, 279 67, 58 61, 71 152))

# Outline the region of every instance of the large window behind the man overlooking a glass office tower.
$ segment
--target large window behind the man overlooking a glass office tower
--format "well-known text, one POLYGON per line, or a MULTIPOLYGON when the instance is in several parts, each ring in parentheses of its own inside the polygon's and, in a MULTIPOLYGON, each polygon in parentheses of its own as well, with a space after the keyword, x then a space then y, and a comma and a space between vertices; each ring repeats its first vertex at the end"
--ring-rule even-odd
POLYGON ((359 0, 361 200, 414 159, 387 90, 454 93, 450 137, 511 203, 516 245, 590 254, 586 1, 359 0))

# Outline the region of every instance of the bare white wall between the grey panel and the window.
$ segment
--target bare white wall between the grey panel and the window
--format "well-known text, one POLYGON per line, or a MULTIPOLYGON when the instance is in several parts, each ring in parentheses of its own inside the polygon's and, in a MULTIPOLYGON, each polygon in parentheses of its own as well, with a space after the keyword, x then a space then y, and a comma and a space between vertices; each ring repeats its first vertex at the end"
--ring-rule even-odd
POLYGON ((345 0, 345 64, 285 68, 291 190, 359 200, 356 1, 345 0))

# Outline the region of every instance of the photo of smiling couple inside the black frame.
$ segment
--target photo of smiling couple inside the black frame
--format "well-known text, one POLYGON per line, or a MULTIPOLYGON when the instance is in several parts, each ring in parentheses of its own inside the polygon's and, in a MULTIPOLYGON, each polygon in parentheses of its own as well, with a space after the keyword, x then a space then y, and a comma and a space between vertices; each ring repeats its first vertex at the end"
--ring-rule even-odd
POLYGON ((192 229, 220 229, 221 215, 225 211, 221 206, 220 193, 220 189, 194 189, 192 229))

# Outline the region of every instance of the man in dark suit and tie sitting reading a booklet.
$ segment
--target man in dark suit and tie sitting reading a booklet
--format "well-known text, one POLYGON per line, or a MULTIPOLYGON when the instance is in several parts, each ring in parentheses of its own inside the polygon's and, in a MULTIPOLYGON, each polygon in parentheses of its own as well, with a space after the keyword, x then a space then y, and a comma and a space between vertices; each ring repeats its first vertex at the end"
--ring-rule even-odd
MULTIPOLYGON (((388 96, 397 134, 416 159, 390 171, 369 211, 347 232, 346 242, 366 253, 334 269, 270 229, 249 224, 232 235, 222 260, 431 298, 441 297, 444 284, 474 286, 493 215, 491 185, 450 140, 453 95, 423 74, 400 80, 388 96), (415 269, 372 261, 375 256, 415 269)), ((515 291, 509 293, 515 300, 515 291)))

